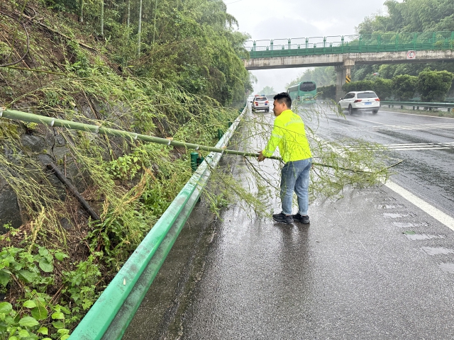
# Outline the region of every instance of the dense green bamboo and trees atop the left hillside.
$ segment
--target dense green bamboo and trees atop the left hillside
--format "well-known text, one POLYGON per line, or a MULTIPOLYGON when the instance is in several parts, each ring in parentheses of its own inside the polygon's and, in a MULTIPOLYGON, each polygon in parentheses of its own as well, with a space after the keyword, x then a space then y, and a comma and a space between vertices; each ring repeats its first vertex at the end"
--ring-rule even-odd
POLYGON ((128 74, 172 81, 228 105, 253 87, 240 57, 249 37, 222 0, 45 0, 77 14, 128 74), (104 4, 104 6, 103 6, 104 4), (131 8, 133 10, 131 11, 131 8), (137 51, 134 53, 133 51, 137 51))

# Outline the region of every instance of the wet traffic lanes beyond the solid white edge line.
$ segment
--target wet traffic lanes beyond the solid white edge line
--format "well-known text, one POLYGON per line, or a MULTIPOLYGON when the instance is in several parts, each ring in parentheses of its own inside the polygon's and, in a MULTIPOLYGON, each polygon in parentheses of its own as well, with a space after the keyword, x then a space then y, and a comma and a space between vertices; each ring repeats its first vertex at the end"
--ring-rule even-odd
POLYGON ((345 118, 326 112, 317 135, 327 140, 361 137, 387 146, 396 159, 404 159, 393 169, 397 174, 392 181, 453 215, 454 118, 394 113, 385 107, 377 115, 355 113, 345 118))

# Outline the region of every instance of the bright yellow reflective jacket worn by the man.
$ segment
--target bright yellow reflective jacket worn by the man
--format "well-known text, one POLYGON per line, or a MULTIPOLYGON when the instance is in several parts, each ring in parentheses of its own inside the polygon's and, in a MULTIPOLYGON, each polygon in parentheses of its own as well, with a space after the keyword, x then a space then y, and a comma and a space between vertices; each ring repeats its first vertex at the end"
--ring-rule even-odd
POLYGON ((271 138, 262 151, 263 156, 271 157, 278 146, 285 163, 312 157, 303 120, 292 110, 282 111, 276 117, 271 138))

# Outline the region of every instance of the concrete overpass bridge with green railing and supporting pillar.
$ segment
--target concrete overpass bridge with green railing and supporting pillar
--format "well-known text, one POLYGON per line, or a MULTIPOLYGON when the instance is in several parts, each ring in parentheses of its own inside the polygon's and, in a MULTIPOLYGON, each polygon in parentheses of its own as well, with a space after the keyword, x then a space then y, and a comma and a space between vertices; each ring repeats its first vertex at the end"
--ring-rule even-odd
POLYGON ((279 69, 334 66, 336 98, 355 64, 454 62, 454 32, 384 33, 248 40, 245 67, 279 69))

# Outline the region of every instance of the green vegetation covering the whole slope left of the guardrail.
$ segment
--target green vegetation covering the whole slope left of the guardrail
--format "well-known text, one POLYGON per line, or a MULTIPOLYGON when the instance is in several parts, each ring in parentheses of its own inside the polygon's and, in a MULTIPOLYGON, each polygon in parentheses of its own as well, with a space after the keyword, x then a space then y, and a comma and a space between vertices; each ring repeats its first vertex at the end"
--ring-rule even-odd
MULTIPOLYGON (((0 13, 0 65, 13 64, 0 68, 0 106, 214 145, 252 90, 240 60, 246 37, 223 2, 160 1, 153 13, 143 1, 140 54, 137 12, 126 20, 126 3, 106 4, 101 30, 100 4, 28 1, 27 32, 0 13)), ((22 3, 3 6, 21 18, 22 3)), ((4 119, 0 150, 0 177, 23 220, 0 239, 0 339, 67 339, 191 176, 187 150, 4 119), (45 162, 100 220, 81 212, 45 162)))

